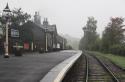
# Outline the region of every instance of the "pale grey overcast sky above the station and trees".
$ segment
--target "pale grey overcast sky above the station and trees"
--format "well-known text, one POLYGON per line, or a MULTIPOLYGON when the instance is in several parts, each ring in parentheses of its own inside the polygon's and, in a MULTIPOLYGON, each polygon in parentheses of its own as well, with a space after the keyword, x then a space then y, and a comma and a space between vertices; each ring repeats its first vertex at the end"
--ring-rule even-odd
POLYGON ((82 37, 82 27, 87 17, 98 21, 97 32, 101 33, 110 17, 125 17, 125 0, 0 0, 0 11, 6 3, 10 9, 22 8, 32 16, 39 11, 41 20, 47 17, 50 24, 56 24, 58 33, 82 37))

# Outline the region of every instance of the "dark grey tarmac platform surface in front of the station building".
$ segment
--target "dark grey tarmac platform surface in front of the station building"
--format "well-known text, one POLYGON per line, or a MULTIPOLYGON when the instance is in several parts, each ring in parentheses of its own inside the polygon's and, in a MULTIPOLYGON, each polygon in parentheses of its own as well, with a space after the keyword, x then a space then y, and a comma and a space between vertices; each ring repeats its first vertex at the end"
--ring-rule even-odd
POLYGON ((77 51, 27 53, 21 57, 0 56, 0 82, 39 82, 54 66, 77 51))

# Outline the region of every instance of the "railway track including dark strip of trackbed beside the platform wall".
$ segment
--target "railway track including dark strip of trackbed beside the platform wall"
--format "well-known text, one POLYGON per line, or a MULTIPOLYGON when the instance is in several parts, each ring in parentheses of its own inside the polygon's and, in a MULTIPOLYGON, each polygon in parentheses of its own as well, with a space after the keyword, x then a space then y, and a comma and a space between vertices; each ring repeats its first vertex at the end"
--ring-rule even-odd
MULTIPOLYGON (((104 59, 104 58, 103 58, 104 59)), ((107 62, 85 53, 66 74, 62 82, 125 82, 121 81, 107 62)))

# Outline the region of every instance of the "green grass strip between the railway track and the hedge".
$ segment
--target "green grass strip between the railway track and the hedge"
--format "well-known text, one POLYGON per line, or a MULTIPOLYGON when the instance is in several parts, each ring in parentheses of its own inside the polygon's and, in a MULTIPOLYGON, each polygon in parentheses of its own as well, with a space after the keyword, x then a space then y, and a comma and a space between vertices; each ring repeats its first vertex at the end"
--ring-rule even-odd
POLYGON ((108 59, 110 59, 113 63, 120 66, 121 68, 125 69, 125 56, 118 56, 113 54, 104 54, 100 52, 92 52, 96 55, 104 56, 108 59))

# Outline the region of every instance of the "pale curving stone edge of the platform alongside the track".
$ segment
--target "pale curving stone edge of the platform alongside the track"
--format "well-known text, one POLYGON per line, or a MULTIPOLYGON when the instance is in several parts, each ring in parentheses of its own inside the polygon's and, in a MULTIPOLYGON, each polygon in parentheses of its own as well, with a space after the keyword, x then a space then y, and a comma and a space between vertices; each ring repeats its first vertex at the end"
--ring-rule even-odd
POLYGON ((77 61, 77 59, 81 55, 82 55, 82 51, 78 51, 78 53, 75 54, 74 56, 56 65, 44 76, 44 78, 40 80, 40 82, 61 82, 65 74, 67 73, 67 71, 72 67, 72 65, 77 61), (64 66, 64 67, 61 67, 61 66, 64 66), (60 68, 60 70, 58 68, 60 68))

